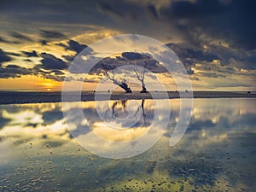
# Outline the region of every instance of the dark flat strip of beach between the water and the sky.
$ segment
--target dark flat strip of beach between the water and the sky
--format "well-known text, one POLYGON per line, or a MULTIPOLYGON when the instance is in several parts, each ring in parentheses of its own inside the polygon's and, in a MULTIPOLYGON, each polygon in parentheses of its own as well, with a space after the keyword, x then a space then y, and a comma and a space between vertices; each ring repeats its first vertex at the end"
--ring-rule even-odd
MULTIPOLYGON (((164 92, 150 93, 123 93, 123 92, 82 92, 81 96, 74 94, 74 92, 65 92, 65 102, 88 102, 95 100, 141 100, 141 99, 178 99, 179 92, 168 91, 166 95, 164 92), (97 99, 95 95, 97 94, 97 99), (78 100, 78 97, 81 98, 78 100), (68 100, 68 101, 67 101, 68 100)), ((191 93, 184 93, 185 98, 191 98, 191 93)), ((248 93, 246 91, 194 91, 193 98, 255 98, 256 93, 248 93)), ((55 92, 22 92, 22 91, 0 91, 0 104, 23 104, 23 103, 45 103, 45 102, 61 102, 61 91, 55 92)))

